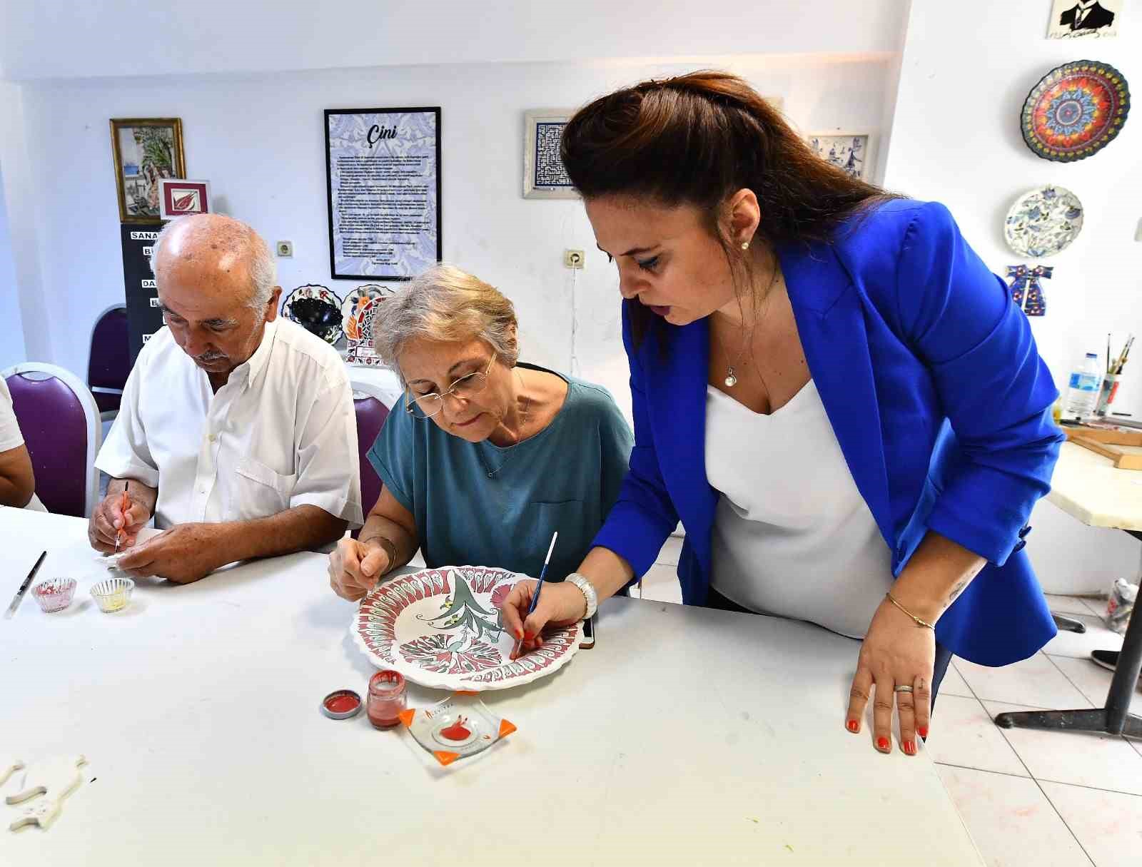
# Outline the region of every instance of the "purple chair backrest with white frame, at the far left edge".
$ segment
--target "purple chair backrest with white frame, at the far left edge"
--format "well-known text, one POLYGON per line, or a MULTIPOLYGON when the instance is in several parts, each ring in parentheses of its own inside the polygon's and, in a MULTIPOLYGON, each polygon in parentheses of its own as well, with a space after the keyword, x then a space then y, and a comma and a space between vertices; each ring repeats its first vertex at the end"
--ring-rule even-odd
POLYGON ((71 371, 37 361, 0 376, 32 458, 37 496, 49 512, 89 517, 99 496, 95 456, 103 441, 91 392, 71 371))

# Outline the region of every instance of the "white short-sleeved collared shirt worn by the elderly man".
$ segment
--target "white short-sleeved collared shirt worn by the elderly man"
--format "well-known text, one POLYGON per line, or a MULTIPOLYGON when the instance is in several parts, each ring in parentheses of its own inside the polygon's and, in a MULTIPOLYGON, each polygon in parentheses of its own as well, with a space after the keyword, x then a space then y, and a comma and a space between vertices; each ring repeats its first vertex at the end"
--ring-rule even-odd
POLYGON ((361 524, 356 415, 345 364, 300 326, 267 322, 217 393, 161 328, 127 378, 96 466, 159 489, 155 527, 248 521, 295 506, 361 524))

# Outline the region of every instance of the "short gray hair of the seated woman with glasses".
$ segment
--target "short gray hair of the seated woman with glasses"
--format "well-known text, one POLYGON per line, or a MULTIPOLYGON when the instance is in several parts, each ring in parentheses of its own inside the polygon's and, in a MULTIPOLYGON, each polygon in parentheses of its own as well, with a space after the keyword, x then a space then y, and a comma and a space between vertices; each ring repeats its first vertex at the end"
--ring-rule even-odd
POLYGON ((400 355, 411 340, 471 340, 494 350, 508 367, 520 358, 515 307, 502 292, 455 265, 433 265, 380 305, 372 345, 401 377, 400 355))

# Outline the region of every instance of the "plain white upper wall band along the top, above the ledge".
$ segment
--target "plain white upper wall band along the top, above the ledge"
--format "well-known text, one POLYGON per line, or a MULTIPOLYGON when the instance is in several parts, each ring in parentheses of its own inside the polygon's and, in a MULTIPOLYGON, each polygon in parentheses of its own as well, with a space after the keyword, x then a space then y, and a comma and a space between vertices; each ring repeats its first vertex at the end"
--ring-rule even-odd
POLYGON ((906 10, 906 0, 0 0, 0 74, 895 51, 906 10))

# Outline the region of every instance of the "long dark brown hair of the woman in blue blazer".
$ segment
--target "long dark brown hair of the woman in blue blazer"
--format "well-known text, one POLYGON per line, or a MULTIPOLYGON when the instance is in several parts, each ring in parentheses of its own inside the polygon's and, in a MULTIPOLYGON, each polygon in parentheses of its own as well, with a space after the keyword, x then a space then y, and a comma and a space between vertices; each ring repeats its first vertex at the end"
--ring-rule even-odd
MULTIPOLYGON (((718 217, 727 195, 753 190, 762 211, 755 240, 770 249, 828 242, 837 227, 893 198, 820 159, 746 81, 699 71, 616 90, 576 112, 560 146, 571 183, 585 199, 646 198, 691 204, 721 242, 741 300, 739 272, 718 217)), ((635 342, 656 321, 630 305, 635 342)))

